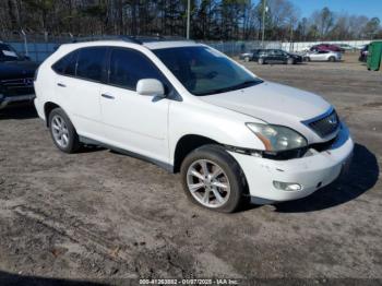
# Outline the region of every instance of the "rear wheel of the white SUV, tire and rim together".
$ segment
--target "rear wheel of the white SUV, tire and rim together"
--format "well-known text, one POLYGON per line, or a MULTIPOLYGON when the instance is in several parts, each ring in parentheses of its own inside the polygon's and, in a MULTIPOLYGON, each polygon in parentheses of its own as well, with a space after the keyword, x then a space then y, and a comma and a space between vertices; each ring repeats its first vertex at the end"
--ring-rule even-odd
POLYGON ((81 146, 79 135, 61 108, 55 108, 49 114, 49 130, 55 145, 60 151, 68 154, 79 151, 81 146))

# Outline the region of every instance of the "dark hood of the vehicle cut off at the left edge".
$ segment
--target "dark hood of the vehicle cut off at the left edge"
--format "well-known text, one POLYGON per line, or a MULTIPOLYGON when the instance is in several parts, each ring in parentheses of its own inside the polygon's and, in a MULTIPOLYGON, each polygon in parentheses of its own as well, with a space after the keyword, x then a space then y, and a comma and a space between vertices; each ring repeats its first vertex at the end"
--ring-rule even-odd
POLYGON ((2 61, 0 62, 0 80, 33 78, 37 69, 33 61, 2 61))

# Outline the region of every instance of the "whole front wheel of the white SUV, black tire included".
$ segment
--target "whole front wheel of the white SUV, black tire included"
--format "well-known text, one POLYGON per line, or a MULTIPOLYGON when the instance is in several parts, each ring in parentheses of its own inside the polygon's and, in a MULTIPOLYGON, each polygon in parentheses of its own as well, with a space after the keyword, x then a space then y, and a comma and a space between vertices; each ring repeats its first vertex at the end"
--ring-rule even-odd
POLYGON ((187 196, 208 210, 232 213, 248 199, 247 181, 239 164, 219 145, 204 145, 191 152, 183 159, 180 174, 187 196), (193 192, 190 186, 195 187, 193 192))

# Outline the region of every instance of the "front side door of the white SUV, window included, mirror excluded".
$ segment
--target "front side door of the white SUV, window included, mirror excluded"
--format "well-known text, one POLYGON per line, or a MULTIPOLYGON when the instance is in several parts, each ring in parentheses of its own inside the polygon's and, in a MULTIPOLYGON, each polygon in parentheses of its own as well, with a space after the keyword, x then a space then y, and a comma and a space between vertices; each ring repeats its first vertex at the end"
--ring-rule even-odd
POLYGON ((107 143, 168 163, 168 108, 170 100, 139 95, 136 83, 166 79, 142 52, 114 48, 107 83, 102 86, 100 106, 107 143))

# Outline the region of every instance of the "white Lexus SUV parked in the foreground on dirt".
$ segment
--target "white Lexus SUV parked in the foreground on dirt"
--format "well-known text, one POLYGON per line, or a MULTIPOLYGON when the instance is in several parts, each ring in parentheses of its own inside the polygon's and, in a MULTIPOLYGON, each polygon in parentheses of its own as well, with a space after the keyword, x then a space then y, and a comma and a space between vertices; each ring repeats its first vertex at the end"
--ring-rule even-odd
POLYGON ((180 171, 188 196, 219 212, 303 198, 336 179, 354 147, 320 96, 193 41, 62 45, 35 90, 59 150, 97 144, 180 171))

